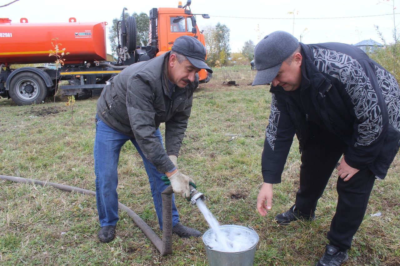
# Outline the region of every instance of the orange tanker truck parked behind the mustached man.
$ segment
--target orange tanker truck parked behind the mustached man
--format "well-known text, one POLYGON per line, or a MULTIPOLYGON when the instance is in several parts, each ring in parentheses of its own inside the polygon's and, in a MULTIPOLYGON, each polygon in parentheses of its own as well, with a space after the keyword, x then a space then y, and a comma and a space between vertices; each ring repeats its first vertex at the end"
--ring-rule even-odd
MULTIPOLYGON (((149 22, 149 45, 136 49, 136 20, 133 16, 118 22, 118 60, 107 61, 107 22, 82 23, 70 18, 68 23, 11 23, 0 18, 0 96, 11 98, 18 105, 42 103, 54 95, 58 81, 63 95, 77 98, 98 95, 110 77, 126 66, 150 60, 171 50, 174 40, 182 35, 194 36, 205 46, 204 35, 190 10, 191 0, 178 8, 152 8, 149 22), (10 67, 14 64, 54 63, 49 56, 52 40, 66 48, 64 65, 58 70, 48 67, 10 67)), ((203 18, 209 18, 202 14, 203 18)), ((61 55, 60 51, 58 54, 61 55)), ((200 82, 208 82, 210 74, 199 71, 200 82)))

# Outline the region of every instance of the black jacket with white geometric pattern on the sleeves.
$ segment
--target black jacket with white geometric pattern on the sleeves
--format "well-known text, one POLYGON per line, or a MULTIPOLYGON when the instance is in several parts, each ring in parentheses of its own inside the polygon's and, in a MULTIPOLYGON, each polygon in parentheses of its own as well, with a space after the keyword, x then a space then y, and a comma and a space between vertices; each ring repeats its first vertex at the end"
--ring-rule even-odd
MULTIPOLYGON (((347 145, 346 163, 384 179, 399 149, 400 90, 396 79, 360 48, 301 44, 302 86, 328 131, 347 145)), ((310 135, 306 116, 280 86, 272 86, 271 113, 262 153, 266 183, 280 183, 296 133, 300 152, 310 135)), ((329 141, 327 139, 326 141, 329 141)))

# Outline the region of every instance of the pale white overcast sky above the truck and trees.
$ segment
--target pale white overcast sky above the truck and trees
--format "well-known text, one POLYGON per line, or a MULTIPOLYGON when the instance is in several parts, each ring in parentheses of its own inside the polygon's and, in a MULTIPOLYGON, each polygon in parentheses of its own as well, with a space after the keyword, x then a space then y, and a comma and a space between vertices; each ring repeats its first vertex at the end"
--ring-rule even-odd
MULTIPOLYGON (((0 0, 0 5, 9 2, 12 0, 0 0)), ((394 3, 396 7, 400 0, 394 3)), ((306 44, 356 44, 368 39, 382 43, 374 27, 378 25, 386 41, 392 42, 394 23, 400 32, 400 14, 393 16, 392 4, 392 0, 192 0, 190 8, 194 14, 209 14, 211 17, 204 19, 197 16, 200 30, 218 22, 228 26, 232 52, 237 52, 244 42, 252 40, 257 44, 260 36, 276 30, 290 32, 298 40, 302 36, 301 41, 306 44), (288 12, 294 12, 294 15, 288 12)), ((19 0, 0 8, 0 18, 10 18, 12 23, 27 18, 28 22, 36 23, 68 22, 70 17, 75 17, 78 22, 106 21, 109 28, 113 18, 120 17, 124 7, 131 14, 148 14, 151 8, 177 6, 178 1, 175 0, 19 0)), ((394 11, 400 13, 400 7, 394 11)))

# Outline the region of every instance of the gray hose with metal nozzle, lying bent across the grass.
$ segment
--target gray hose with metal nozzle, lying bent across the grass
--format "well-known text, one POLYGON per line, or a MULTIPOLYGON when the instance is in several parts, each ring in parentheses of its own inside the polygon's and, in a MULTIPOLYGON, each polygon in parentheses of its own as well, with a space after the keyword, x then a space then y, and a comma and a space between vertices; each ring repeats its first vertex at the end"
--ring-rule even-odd
MULTIPOLYGON (((22 177, 11 177, 7 175, 0 175, 0 179, 12 181, 15 183, 30 183, 36 184, 41 186, 50 186, 56 189, 60 189, 62 191, 70 191, 70 192, 78 192, 82 194, 89 194, 89 195, 96 195, 96 192, 81 189, 79 187, 71 187, 68 185, 62 185, 57 183, 51 183, 47 181, 41 181, 36 179, 27 179, 22 177)), ((199 193, 193 187, 190 187, 190 195, 192 196, 191 203, 194 205, 196 204, 196 200, 202 199, 204 200, 205 197, 202 193, 199 193)), ((172 254, 172 186, 168 186, 164 191, 161 193, 162 198, 162 240, 160 237, 136 214, 133 210, 118 202, 118 208, 121 210, 125 210, 128 213, 128 216, 132 218, 137 226, 144 232, 148 239, 156 246, 157 250, 160 252, 162 256, 172 254)))

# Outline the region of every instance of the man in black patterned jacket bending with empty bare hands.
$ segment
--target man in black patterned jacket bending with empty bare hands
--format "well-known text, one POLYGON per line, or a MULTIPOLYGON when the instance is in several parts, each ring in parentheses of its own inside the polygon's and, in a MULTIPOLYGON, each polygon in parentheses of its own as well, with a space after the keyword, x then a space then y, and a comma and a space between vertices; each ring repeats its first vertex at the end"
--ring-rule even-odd
POLYGON ((336 165, 338 203, 321 265, 341 265, 358 230, 375 179, 384 179, 400 140, 400 90, 386 69, 358 47, 302 44, 272 32, 254 49, 253 85, 271 83, 271 112, 262 152, 262 215, 272 207, 294 134, 300 144, 300 189, 279 224, 315 220, 317 201, 336 165), (338 163, 339 162, 339 163, 338 163))

